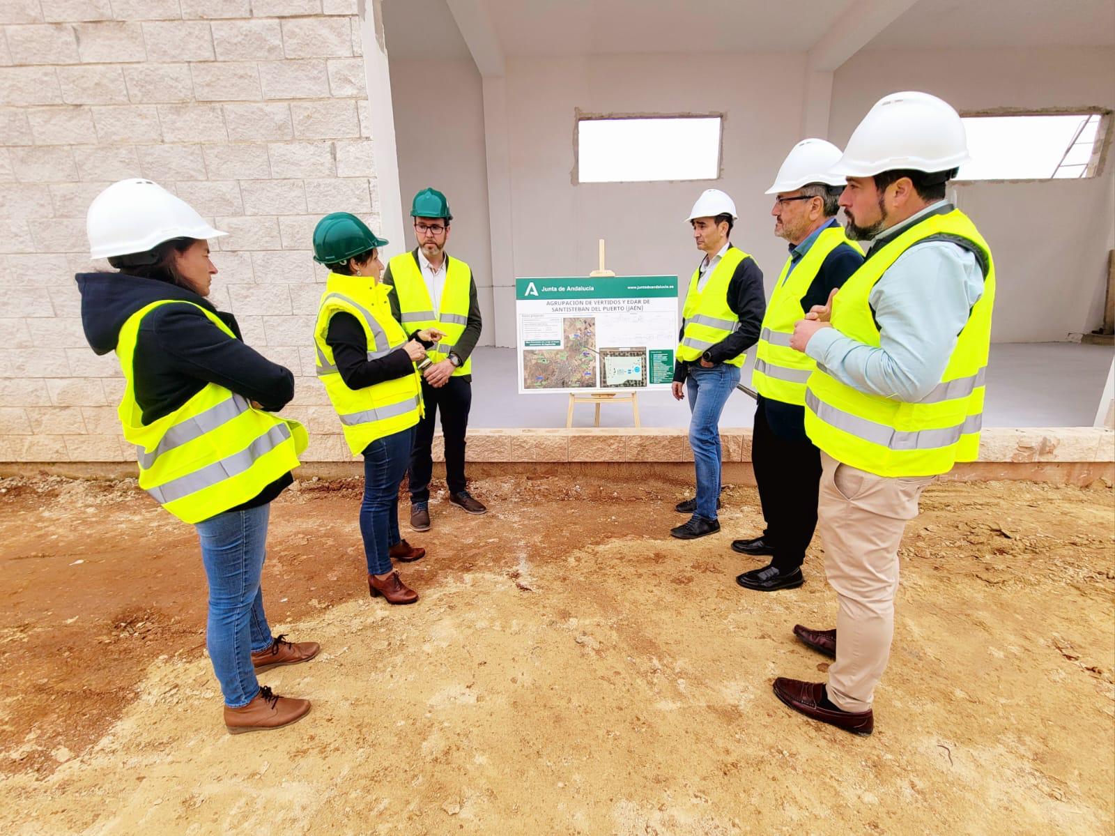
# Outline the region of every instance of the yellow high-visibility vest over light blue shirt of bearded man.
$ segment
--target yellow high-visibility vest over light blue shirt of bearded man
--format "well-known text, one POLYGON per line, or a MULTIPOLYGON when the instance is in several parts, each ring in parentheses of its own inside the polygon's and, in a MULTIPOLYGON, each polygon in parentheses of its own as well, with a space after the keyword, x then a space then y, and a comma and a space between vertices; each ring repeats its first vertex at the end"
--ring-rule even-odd
POLYGON ((836 294, 832 326, 852 339, 879 346, 871 289, 899 256, 929 239, 963 241, 983 270, 983 295, 957 337, 940 384, 917 403, 860 392, 822 367, 806 385, 805 431, 813 443, 837 461, 883 477, 937 475, 958 461, 979 457, 995 263, 987 241, 966 214, 953 209, 930 215, 872 251, 836 294))

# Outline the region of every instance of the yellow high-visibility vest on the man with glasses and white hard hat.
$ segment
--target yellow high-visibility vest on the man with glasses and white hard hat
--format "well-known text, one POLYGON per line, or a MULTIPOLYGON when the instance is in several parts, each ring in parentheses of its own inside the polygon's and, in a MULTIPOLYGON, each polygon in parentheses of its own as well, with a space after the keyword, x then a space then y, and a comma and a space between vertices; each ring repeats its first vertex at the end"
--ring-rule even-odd
POLYGON ((821 231, 794 272, 789 273, 789 278, 786 278, 786 273, 789 272, 793 258, 786 259, 778 284, 770 294, 759 342, 755 346, 752 385, 763 397, 797 406, 805 405, 805 382, 817 364, 809 355, 791 348, 789 338, 794 335, 794 323, 803 319, 806 314, 802 308, 802 297, 808 291, 828 253, 842 243, 863 254, 860 244, 849 239, 842 227, 828 227, 821 231))

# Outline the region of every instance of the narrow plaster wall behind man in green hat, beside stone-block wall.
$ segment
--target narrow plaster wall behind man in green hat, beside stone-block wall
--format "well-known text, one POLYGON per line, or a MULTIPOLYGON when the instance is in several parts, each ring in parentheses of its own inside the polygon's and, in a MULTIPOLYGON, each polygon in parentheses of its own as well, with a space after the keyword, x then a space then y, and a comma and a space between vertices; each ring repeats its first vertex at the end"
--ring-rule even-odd
MULTIPOLYGON (((453 211, 447 251, 473 268, 484 319, 479 345, 493 345, 492 246, 481 75, 471 58, 392 58, 390 66, 406 234, 401 249, 415 247, 410 224, 410 201, 415 193, 426 186, 445 192, 453 211)), ((391 244, 391 252, 400 251, 394 247, 395 241, 391 244)))

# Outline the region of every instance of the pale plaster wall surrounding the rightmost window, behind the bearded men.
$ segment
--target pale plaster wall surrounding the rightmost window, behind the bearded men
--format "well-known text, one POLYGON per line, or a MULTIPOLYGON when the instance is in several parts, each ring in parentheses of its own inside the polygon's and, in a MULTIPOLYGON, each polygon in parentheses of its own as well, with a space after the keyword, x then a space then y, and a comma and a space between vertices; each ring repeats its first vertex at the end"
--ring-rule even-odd
MULTIPOLYGON (((830 138, 846 142, 871 105, 894 90, 923 89, 962 113, 1115 108, 1112 79, 1115 50, 1109 48, 865 51, 835 74, 830 138)), ((996 259, 995 342, 1063 340, 1101 325, 1115 229, 1111 153, 1099 177, 960 184, 957 201, 996 259)))

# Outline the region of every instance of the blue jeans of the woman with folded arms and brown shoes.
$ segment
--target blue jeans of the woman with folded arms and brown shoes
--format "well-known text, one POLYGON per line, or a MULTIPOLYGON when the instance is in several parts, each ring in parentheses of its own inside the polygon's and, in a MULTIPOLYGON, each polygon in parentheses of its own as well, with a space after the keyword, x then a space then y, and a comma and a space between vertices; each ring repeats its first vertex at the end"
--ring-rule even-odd
POLYGON ((260 589, 270 516, 269 503, 219 513, 194 526, 210 585, 205 646, 224 703, 234 709, 260 692, 251 654, 271 646, 260 589))

